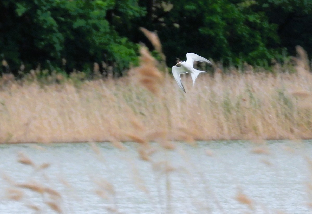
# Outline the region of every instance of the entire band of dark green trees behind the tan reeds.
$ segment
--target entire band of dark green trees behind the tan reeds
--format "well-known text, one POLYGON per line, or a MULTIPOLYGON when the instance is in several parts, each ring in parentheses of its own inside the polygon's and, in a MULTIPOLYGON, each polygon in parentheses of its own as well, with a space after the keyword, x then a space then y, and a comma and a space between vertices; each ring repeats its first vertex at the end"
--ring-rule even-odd
MULTIPOLYGON (((2 0, 0 54, 12 71, 93 62, 122 71, 137 60, 139 27, 157 30, 168 66, 195 52, 237 64, 261 64, 287 48, 312 53, 308 0, 2 0)), ((3 71, 3 69, 2 69, 3 71)))

